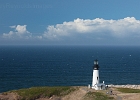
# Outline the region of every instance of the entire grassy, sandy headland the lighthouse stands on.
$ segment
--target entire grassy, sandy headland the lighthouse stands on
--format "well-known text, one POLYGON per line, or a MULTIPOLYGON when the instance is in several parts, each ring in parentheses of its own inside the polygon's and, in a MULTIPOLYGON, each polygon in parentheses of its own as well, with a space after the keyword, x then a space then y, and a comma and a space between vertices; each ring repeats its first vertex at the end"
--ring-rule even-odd
POLYGON ((140 100, 140 85, 108 85, 107 90, 87 86, 33 87, 0 94, 0 100, 140 100))

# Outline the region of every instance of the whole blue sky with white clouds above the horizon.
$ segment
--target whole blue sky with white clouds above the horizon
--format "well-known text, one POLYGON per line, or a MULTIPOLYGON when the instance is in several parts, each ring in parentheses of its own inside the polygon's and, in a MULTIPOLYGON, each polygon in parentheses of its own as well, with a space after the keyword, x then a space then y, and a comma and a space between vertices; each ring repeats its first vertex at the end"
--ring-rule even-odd
POLYGON ((139 45, 139 0, 1 0, 0 44, 139 45))

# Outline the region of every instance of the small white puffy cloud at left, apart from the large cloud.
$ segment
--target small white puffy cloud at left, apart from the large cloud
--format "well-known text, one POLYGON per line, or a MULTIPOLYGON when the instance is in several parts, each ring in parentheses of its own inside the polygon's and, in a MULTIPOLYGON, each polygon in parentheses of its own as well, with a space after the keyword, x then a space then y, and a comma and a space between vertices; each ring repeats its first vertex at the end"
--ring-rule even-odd
POLYGON ((14 29, 14 31, 10 31, 9 33, 3 33, 4 38, 24 38, 29 39, 32 37, 32 34, 27 31, 27 25, 17 25, 17 26, 10 26, 10 28, 14 29))

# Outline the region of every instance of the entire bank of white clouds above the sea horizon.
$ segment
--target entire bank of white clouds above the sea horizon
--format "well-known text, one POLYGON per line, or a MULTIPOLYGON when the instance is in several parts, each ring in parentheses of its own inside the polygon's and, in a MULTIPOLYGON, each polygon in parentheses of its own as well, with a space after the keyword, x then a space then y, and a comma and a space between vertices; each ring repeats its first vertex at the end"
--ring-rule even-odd
POLYGON ((108 44, 108 43, 138 43, 140 42, 140 20, 126 17, 118 20, 80 19, 50 25, 42 35, 32 36, 27 31, 27 25, 10 26, 15 31, 3 33, 4 38, 36 38, 46 41, 56 41, 77 44, 108 44))

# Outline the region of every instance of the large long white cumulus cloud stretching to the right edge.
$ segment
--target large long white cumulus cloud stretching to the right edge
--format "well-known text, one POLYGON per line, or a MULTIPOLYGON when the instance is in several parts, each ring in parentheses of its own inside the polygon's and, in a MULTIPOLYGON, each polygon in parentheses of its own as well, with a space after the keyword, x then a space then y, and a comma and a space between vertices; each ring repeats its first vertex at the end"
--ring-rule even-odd
POLYGON ((134 17, 126 17, 118 20, 80 19, 63 22, 62 24, 50 25, 44 32, 47 39, 82 36, 91 38, 128 38, 140 36, 140 20, 134 17))

